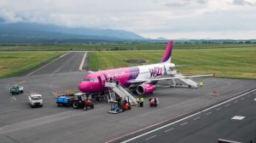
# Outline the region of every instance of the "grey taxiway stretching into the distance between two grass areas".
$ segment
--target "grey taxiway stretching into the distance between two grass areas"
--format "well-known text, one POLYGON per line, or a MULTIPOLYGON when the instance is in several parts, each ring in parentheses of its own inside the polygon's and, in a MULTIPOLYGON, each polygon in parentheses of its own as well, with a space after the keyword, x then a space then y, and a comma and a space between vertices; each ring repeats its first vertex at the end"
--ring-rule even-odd
MULTIPOLYGON (((63 54, 61 57, 50 61, 48 64, 40 66, 34 71, 27 73, 27 75, 52 75, 61 72, 78 72, 81 63, 84 60, 84 55, 86 55, 86 52, 70 52, 63 54)), ((85 62, 84 65, 87 65, 87 62, 85 62)))

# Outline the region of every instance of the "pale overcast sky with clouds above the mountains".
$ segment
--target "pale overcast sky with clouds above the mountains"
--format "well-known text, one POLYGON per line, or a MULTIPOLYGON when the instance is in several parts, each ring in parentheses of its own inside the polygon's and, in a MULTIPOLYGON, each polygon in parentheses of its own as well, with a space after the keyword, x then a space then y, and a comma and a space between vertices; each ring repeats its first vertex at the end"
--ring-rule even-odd
POLYGON ((134 31, 143 37, 256 38, 256 0, 0 0, 0 22, 134 31))

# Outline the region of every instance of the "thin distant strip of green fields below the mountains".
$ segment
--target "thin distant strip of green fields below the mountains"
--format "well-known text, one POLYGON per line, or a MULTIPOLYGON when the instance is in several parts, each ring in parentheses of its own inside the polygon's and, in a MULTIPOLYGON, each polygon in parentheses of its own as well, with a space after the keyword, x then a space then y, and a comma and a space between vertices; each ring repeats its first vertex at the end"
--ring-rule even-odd
MULTIPOLYGON (((256 43, 174 43, 175 49, 256 47, 256 43)), ((0 44, 0 51, 164 50, 166 43, 0 44)))

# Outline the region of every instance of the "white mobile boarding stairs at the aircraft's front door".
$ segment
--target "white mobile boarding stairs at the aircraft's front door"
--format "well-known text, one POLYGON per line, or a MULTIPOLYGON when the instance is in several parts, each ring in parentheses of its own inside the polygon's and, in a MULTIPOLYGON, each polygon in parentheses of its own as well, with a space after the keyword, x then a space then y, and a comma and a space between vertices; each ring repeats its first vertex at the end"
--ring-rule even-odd
POLYGON ((137 97, 120 83, 105 83, 105 87, 109 88, 108 102, 115 101, 115 94, 117 94, 122 99, 129 101, 131 105, 137 105, 137 97))

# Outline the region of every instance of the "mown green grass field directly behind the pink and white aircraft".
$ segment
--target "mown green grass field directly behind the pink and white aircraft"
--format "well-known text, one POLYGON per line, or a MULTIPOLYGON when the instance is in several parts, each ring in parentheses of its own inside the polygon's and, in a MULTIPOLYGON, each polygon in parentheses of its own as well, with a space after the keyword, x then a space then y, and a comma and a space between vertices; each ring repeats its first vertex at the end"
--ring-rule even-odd
MULTIPOLYGON (((90 52, 89 68, 110 69, 125 66, 138 66, 123 60, 147 60, 145 64, 160 62, 164 51, 125 51, 90 52)), ((176 65, 193 64, 179 67, 186 75, 210 74, 217 77, 256 78, 256 47, 242 49, 177 49, 172 52, 172 63, 176 65)))

